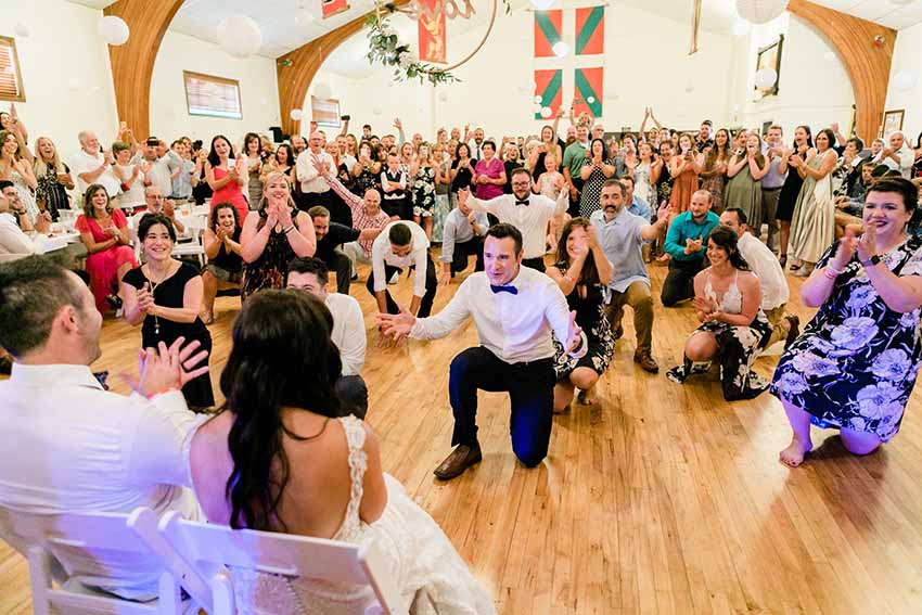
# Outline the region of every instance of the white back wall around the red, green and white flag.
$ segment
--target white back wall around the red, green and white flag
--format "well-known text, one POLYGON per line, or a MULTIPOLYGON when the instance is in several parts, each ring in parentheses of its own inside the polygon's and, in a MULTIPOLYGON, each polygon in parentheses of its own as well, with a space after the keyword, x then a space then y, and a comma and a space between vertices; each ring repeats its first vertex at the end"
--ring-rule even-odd
MULTIPOLYGON (((717 124, 729 120, 728 84, 719 78, 730 66, 729 35, 703 31, 701 51, 690 57, 688 24, 617 3, 607 8, 605 28, 602 120, 607 128, 631 126, 637 130, 643 108, 651 104, 657 118, 668 126, 696 129, 704 117, 717 124), (638 53, 638 49, 644 52, 638 53), (702 78, 693 79, 695 75, 702 78), (695 81, 694 89, 686 92, 691 80, 695 81)), ((398 24, 398 29, 406 28, 398 24)), ((546 121, 535 120, 533 112, 530 82, 534 68, 540 67, 533 61, 533 29, 530 12, 518 10, 499 15, 483 49, 453 72, 461 82, 439 86, 437 90, 418 81, 394 84, 392 71, 384 67, 377 67, 370 76, 350 79, 330 61, 312 84, 323 80, 331 85, 343 112, 355 118, 356 132, 364 123, 376 132, 389 131, 395 116, 402 119, 408 137, 414 131, 432 137, 439 126, 461 127, 466 123, 482 125, 497 138, 537 132, 546 121)), ((479 25, 464 28, 463 20, 451 22, 449 59, 473 49, 482 33, 479 25)), ((364 39, 366 34, 356 36, 364 39)), ((411 43, 415 47, 414 39, 411 43)), ((564 95, 567 106, 568 95, 564 95)), ((308 107, 309 93, 305 103, 308 107)))

